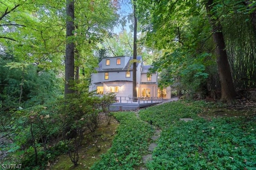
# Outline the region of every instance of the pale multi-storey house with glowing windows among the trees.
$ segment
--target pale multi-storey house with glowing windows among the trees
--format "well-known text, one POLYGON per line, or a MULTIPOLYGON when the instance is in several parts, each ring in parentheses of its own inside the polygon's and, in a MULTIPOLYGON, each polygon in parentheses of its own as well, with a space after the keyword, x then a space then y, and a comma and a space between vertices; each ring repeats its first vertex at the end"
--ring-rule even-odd
MULTIPOLYGON (((132 57, 118 56, 103 58, 96 68, 97 73, 91 76, 89 91, 97 90, 98 94, 113 92, 117 97, 132 96, 132 57)), ((158 74, 147 76, 150 65, 144 65, 141 56, 136 63, 137 97, 163 97, 170 99, 170 87, 158 88, 158 74)))

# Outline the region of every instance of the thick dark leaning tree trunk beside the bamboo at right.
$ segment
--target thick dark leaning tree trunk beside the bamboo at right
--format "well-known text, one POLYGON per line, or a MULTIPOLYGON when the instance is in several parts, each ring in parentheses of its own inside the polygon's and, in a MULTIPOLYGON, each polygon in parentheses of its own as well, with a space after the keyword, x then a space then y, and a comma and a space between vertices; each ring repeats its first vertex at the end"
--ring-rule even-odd
POLYGON ((216 43, 217 66, 221 84, 220 101, 234 103, 236 101, 236 92, 234 89, 230 66, 228 63, 228 55, 226 52, 225 42, 222 34, 222 26, 218 21, 218 16, 216 15, 216 12, 212 10, 212 4, 213 0, 208 0, 206 2, 206 11, 210 19, 210 24, 212 26, 214 43, 216 43))

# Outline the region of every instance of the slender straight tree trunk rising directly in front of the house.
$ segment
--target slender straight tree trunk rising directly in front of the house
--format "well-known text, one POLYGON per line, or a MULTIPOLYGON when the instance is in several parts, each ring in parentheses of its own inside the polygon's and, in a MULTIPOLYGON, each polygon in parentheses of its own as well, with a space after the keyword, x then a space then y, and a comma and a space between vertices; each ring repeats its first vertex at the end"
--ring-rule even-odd
POLYGON ((137 71, 136 71, 136 61, 137 61, 137 17, 136 17, 136 0, 133 1, 133 15, 134 15, 134 30, 133 30, 133 69, 132 69, 132 96, 137 97, 137 71))

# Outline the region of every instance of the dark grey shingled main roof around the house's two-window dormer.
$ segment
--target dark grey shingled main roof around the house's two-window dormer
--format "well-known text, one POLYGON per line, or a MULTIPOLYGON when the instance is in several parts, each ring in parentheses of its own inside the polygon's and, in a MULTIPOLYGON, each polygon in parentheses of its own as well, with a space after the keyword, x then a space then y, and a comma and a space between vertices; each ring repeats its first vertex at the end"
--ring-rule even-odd
MULTIPOLYGON (((127 56, 118 56, 118 57, 127 57, 127 56)), ((111 57, 108 57, 108 58, 111 58, 111 57)), ((104 59, 106 59, 106 58, 104 58, 104 59)), ((141 56, 137 56, 137 60, 141 60, 141 59, 142 59, 141 56)), ((109 69, 102 69, 102 63, 103 63, 103 60, 102 60, 102 61, 100 61, 100 63, 98 64, 99 67, 97 67, 96 70, 97 70, 98 72, 127 71, 127 70, 132 71, 133 65, 132 65, 132 64, 129 65, 129 63, 130 63, 131 60, 132 60, 132 57, 130 57, 128 63, 127 63, 126 66, 123 67, 123 68, 109 68, 109 69)), ((138 65, 139 65, 139 63, 137 62, 137 63, 136 63, 136 67, 138 67, 138 65)))

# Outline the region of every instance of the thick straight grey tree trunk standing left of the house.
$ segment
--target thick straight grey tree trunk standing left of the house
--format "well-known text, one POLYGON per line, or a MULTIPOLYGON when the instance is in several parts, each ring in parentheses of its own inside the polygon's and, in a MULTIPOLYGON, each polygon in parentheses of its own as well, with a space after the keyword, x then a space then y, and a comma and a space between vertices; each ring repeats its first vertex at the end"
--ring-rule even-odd
POLYGON ((65 56, 65 97, 74 93, 70 81, 74 80, 74 0, 66 0, 66 56, 65 56))

